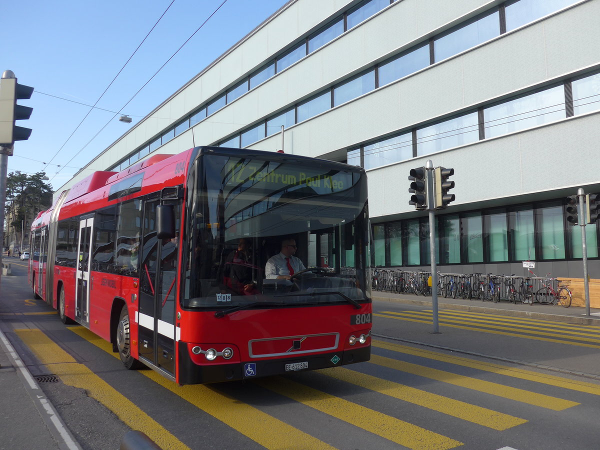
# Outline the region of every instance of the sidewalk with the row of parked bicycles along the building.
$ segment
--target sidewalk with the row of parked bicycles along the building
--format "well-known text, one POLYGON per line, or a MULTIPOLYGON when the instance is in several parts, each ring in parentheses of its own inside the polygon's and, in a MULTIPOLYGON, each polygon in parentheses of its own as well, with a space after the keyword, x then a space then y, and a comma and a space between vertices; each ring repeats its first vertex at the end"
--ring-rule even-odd
MULTIPOLYGON (((398 302, 412 305, 431 306, 431 296, 414 294, 394 294, 389 292, 373 291, 374 301, 398 302)), ((532 317, 535 319, 555 320, 556 322, 578 323, 581 325, 600 326, 600 309, 590 308, 590 316, 586 316, 586 308, 569 307, 560 305, 541 305, 533 302, 530 304, 508 303, 501 300, 498 303, 481 301, 477 299, 464 300, 461 298, 437 298, 437 306, 442 309, 472 311, 474 313, 503 314, 513 317, 532 317)))

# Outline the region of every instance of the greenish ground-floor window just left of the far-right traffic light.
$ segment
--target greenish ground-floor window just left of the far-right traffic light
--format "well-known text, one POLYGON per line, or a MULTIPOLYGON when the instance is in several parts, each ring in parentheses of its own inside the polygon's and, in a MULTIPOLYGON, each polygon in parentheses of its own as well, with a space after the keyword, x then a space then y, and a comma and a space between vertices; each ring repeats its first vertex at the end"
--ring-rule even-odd
POLYGON ((565 219, 562 206, 536 209, 541 259, 565 259, 565 219))

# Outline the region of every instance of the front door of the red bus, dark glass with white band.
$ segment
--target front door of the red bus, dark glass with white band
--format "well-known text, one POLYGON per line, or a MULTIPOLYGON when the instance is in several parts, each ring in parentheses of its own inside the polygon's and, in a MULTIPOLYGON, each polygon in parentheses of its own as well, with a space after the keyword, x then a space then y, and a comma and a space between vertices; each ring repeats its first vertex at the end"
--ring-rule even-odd
MULTIPOLYGON (((181 202, 175 201, 175 217, 181 202)), ((170 200, 164 201, 170 203, 170 200)), ((139 340, 142 358, 175 374, 175 292, 179 244, 177 239, 157 239, 158 199, 146 201, 142 265, 140 266, 139 340)))

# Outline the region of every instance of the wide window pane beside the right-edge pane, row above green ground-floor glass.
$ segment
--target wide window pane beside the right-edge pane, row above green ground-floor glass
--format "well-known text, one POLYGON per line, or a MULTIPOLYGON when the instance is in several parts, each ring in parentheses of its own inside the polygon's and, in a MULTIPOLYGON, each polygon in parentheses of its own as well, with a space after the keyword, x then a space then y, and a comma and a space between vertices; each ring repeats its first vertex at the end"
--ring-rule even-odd
POLYGON ((500 136, 565 117, 565 89, 562 85, 556 86, 485 108, 485 137, 500 136))

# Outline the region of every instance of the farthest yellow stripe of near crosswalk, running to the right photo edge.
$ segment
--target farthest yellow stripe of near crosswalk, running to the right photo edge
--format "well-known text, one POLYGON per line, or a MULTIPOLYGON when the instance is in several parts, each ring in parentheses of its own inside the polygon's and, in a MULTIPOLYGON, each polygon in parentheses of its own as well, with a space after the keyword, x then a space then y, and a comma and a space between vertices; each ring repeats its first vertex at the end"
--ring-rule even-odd
POLYGON ((549 374, 542 374, 531 370, 517 367, 508 367, 506 365, 494 364, 493 362, 474 361, 460 356, 445 355, 444 353, 434 352, 433 350, 421 350, 414 347, 407 347, 401 344, 394 344, 374 340, 373 347, 392 350, 394 352, 406 353, 407 355, 419 356, 421 358, 434 359, 435 361, 449 362, 454 365, 461 365, 476 370, 483 370, 503 376, 513 377, 520 380, 529 380, 544 385, 557 386, 571 391, 585 392, 586 394, 600 395, 600 386, 593 383, 587 383, 580 380, 571 380, 549 374))

